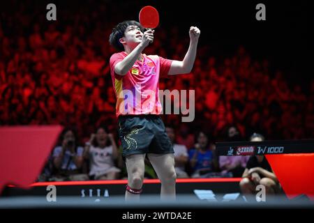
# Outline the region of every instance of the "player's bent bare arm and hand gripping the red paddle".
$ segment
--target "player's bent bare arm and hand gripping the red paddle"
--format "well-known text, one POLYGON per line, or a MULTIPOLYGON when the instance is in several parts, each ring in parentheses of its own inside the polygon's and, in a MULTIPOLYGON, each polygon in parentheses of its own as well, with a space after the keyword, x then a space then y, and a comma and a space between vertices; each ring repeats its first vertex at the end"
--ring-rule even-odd
POLYGON ((116 72, 117 75, 126 75, 128 73, 128 70, 133 67, 135 61, 137 58, 140 57, 140 54, 142 54, 142 51, 145 47, 149 45, 150 42, 154 40, 154 31, 145 31, 142 42, 133 49, 126 58, 124 58, 123 61, 120 61, 119 63, 114 66, 114 72, 116 72))

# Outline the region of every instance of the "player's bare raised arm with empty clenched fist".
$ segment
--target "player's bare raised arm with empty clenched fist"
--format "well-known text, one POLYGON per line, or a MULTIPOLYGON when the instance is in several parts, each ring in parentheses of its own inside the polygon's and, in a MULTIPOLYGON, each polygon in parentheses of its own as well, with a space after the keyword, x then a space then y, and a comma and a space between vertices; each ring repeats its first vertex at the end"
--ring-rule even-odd
POLYGON ((188 52, 184 56, 183 61, 172 61, 168 75, 179 75, 189 73, 195 61, 196 49, 198 38, 200 37, 200 29, 196 26, 191 26, 190 31, 190 46, 188 47, 188 52))

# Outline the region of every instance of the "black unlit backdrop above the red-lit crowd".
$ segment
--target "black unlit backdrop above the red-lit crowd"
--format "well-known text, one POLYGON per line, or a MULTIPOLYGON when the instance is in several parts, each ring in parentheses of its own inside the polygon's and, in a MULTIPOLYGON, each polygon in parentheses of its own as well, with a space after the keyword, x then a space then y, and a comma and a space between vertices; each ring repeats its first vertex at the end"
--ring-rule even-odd
MULTIPOLYGON (((276 61, 276 66, 306 84, 313 75, 313 1, 1 1, 0 10, 7 14, 24 8, 25 13, 35 15, 35 20, 45 20, 47 3, 57 5, 57 22, 63 20, 63 10, 88 14, 100 6, 112 8, 103 20, 117 24, 123 20, 138 20, 143 6, 151 5, 160 14, 160 26, 156 29, 179 27, 186 35, 189 26, 202 31, 200 45, 214 45, 208 54, 230 54, 238 45, 244 45, 252 56, 276 61), (266 21, 257 21, 255 6, 264 3, 266 21), (88 10, 87 10, 88 8, 88 10), (117 10, 119 13, 117 14, 117 10), (110 13, 112 12, 112 13, 110 13), (302 75, 293 75, 298 72, 302 75), (300 78, 301 77, 301 78, 300 78)), ((5 22, 1 20, 1 22, 5 22)), ((92 26, 93 24, 91 24, 92 26)), ((3 24, 5 27, 6 24, 3 24)))

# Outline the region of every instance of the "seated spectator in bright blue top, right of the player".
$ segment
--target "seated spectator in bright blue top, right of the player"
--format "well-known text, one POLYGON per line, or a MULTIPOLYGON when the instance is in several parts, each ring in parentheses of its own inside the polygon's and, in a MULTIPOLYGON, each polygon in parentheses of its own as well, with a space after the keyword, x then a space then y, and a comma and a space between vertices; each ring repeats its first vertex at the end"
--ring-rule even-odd
POLYGON ((191 148, 189 153, 190 167, 193 169, 193 178, 206 178, 215 174, 218 167, 214 147, 209 146, 209 140, 204 132, 197 134, 195 148, 191 148))

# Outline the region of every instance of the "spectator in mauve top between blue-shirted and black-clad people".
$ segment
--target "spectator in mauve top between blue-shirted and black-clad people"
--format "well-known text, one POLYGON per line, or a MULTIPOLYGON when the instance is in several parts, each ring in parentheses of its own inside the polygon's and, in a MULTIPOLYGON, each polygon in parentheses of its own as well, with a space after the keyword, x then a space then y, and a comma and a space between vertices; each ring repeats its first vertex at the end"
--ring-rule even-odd
MULTIPOLYGON (((235 125, 231 125, 227 128, 227 141, 241 140, 241 134, 235 125)), ((248 159, 248 155, 221 155, 219 157, 219 167, 222 176, 241 177, 244 169, 246 168, 246 162, 248 162, 248 159)))

